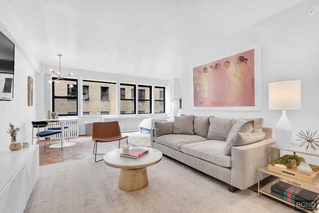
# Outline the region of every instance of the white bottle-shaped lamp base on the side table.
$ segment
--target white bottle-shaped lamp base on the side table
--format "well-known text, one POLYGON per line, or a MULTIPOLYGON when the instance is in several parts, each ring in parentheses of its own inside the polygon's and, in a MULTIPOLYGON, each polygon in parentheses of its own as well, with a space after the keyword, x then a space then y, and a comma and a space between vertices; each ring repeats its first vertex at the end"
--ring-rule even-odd
POLYGON ((293 129, 286 116, 286 110, 283 110, 283 115, 275 126, 276 145, 280 147, 291 147, 293 138, 293 129))

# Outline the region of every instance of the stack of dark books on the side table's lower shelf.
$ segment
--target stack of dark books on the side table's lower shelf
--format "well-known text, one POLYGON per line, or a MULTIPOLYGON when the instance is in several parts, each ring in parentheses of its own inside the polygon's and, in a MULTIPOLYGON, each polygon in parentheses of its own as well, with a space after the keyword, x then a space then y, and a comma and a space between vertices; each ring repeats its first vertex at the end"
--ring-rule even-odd
POLYGON ((314 211, 319 201, 318 193, 282 181, 271 186, 271 195, 309 211, 314 211))

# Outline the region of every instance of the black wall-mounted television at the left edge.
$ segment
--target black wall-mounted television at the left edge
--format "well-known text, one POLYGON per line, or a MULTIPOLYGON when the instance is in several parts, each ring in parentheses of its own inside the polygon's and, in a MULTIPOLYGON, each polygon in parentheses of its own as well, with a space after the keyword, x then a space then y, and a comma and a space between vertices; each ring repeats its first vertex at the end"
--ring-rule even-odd
POLYGON ((0 101, 13 100, 14 43, 0 31, 0 101))

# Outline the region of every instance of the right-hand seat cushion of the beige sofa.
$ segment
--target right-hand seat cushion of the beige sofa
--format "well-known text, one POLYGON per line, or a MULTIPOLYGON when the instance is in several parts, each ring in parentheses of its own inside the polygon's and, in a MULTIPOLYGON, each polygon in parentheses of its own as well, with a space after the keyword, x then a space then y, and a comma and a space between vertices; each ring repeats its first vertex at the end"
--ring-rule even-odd
POLYGON ((231 156, 223 154, 225 141, 209 140, 180 146, 180 151, 221 167, 231 167, 231 156))

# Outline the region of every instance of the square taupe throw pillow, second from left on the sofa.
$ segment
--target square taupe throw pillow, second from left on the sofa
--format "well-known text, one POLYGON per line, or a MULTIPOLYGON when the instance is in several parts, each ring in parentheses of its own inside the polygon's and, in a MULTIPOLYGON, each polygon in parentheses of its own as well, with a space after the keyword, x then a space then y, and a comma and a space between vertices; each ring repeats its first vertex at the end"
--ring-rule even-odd
POLYGON ((173 134, 193 135, 194 115, 174 117, 173 134))

